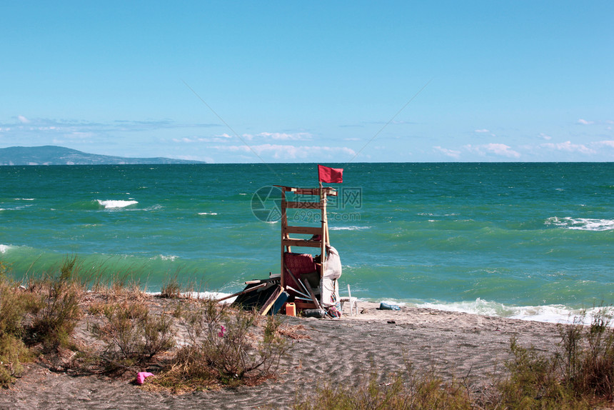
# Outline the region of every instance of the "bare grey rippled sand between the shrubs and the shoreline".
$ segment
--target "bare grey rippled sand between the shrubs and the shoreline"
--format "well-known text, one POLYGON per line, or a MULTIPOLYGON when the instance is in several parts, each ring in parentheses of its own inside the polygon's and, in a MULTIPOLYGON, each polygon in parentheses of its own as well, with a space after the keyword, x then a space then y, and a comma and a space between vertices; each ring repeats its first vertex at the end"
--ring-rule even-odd
MULTIPOLYGON (((151 298, 164 309, 166 299, 151 298)), ((132 383, 134 374, 119 379, 74 374, 53 363, 26 364, 11 389, 0 391, 0 409, 256 409, 288 408, 297 394, 309 396, 326 381, 356 384, 379 374, 401 371, 405 358, 418 371, 434 371, 443 379, 467 378, 475 389, 505 374, 510 338, 539 351, 555 351, 558 326, 431 309, 376 309, 361 302, 358 316, 342 319, 286 317, 299 326, 276 377, 258 386, 202 391, 182 395, 146 391, 132 383)), ((78 334, 86 337, 86 332, 78 334)))

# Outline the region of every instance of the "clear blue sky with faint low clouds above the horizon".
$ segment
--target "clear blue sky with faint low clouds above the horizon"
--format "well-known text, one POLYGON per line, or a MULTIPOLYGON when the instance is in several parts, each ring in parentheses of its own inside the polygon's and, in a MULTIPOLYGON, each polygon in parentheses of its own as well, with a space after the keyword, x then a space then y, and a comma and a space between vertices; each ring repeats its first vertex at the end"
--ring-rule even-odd
POLYGON ((3 1, 0 148, 613 161, 613 1, 3 1))

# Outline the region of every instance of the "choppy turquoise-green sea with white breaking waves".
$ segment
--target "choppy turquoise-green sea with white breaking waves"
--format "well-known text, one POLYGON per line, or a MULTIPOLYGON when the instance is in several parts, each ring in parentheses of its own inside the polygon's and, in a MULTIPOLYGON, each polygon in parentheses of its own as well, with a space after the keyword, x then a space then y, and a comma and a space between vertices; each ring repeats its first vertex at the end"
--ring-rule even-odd
MULTIPOLYGON (((326 165, 341 296, 555 322, 614 304, 614 163, 326 165)), ((279 273, 277 186, 318 186, 317 164, 0 166, 0 261, 232 294, 279 273)))

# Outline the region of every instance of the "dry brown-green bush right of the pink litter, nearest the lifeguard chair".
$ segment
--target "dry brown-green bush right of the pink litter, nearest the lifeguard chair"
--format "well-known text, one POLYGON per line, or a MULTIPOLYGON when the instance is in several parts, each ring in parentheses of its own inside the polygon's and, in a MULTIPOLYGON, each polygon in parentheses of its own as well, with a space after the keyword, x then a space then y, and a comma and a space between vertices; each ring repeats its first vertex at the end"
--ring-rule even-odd
POLYGON ((251 384, 269 376, 288 349, 275 316, 263 318, 213 299, 190 301, 176 314, 188 344, 153 381, 173 391, 251 384))

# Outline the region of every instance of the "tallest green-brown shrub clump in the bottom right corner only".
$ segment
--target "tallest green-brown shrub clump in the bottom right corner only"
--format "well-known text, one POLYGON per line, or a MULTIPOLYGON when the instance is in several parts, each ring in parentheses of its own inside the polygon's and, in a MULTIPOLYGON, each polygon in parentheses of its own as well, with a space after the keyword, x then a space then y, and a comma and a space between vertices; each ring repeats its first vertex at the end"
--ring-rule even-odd
POLYGON ((610 309, 595 311, 588 326, 586 312, 573 324, 560 325, 555 354, 511 340, 510 376, 498 385, 501 404, 513 409, 593 409, 595 402, 614 399, 614 328, 610 309))

